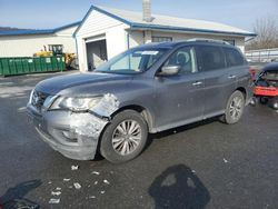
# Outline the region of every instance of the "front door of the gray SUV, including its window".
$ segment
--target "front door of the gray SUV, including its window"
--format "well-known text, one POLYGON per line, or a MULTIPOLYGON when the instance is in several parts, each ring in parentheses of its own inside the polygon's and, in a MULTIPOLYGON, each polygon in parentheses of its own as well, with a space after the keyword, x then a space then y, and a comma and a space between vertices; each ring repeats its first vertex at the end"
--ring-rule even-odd
POLYGON ((156 78, 158 129, 200 120, 203 113, 203 78, 198 72, 195 49, 178 49, 163 66, 179 66, 180 72, 156 78))

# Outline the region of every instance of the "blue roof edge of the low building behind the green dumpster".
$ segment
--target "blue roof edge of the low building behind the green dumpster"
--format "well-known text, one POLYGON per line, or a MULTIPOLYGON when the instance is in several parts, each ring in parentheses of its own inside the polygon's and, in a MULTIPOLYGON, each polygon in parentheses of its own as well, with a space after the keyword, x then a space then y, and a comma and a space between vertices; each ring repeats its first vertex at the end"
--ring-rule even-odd
POLYGON ((66 26, 62 26, 62 27, 59 27, 59 28, 54 28, 54 29, 3 30, 3 31, 0 31, 0 37, 3 37, 3 36, 22 36, 22 34, 52 34, 52 33, 56 33, 56 32, 58 32, 60 30, 79 26, 80 23, 81 23, 81 21, 78 21, 78 22, 73 22, 73 23, 66 24, 66 26))

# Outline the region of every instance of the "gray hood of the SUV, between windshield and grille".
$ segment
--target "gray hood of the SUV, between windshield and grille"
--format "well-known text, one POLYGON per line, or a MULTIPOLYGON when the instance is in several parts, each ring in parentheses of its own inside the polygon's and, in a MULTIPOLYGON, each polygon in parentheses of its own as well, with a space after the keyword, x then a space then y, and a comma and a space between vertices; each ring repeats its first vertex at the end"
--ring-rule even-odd
POLYGON ((93 86, 110 82, 128 82, 131 76, 127 74, 112 74, 112 73, 99 73, 99 72, 86 72, 75 73, 68 76, 59 76, 50 79, 46 79, 36 86, 37 91, 41 91, 49 94, 57 94, 58 92, 72 89, 75 87, 93 86))

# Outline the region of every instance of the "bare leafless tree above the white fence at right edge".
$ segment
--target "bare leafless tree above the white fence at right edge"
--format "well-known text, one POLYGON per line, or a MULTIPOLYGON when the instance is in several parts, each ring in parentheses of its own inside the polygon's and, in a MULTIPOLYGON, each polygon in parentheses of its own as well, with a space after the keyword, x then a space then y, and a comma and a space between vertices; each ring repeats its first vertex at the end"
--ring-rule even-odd
POLYGON ((247 50, 278 48, 278 21, 276 17, 257 19, 254 32, 257 37, 249 41, 247 50))

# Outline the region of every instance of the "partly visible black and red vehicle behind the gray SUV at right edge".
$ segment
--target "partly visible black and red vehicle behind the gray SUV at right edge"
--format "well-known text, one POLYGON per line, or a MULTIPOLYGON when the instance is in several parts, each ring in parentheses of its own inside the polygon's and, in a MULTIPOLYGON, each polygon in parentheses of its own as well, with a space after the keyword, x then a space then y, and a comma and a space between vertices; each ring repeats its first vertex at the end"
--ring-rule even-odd
POLYGON ((267 64, 255 80, 252 104, 258 101, 278 109, 278 62, 267 64))

